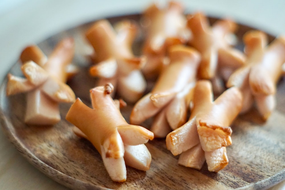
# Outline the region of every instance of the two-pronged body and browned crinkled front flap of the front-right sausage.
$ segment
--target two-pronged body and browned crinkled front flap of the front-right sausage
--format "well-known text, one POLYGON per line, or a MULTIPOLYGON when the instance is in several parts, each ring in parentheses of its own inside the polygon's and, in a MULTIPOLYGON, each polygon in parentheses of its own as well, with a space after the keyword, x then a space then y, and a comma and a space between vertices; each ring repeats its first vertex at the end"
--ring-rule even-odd
POLYGON ((190 119, 196 116, 197 131, 204 151, 231 144, 229 125, 239 114, 242 95, 237 87, 227 89, 215 101, 209 81, 198 81, 194 91, 194 108, 190 119))

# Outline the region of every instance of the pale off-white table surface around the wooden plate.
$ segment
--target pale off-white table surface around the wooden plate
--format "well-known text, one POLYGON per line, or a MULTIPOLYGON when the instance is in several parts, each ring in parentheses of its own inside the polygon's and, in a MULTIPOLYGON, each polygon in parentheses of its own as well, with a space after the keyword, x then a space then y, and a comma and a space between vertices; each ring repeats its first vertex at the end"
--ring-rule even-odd
MULTIPOLYGON (((78 24, 110 15, 138 13, 151 0, 0 0, 0 81, 23 48, 78 24)), ((185 0, 187 11, 285 34, 284 0, 185 0)), ((29 164, 0 130, 0 189, 68 189, 29 164)), ((285 181, 271 190, 285 190, 285 181)))

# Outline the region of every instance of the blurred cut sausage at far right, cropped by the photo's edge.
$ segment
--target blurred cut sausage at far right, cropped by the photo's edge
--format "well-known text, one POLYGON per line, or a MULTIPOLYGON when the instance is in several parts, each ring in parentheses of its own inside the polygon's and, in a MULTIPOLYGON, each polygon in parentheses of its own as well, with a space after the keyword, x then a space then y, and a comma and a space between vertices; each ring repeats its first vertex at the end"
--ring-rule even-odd
POLYGON ((249 31, 243 36, 247 62, 237 69, 227 81, 227 86, 237 86, 243 93, 242 112, 248 111, 255 101, 264 120, 275 107, 276 83, 285 62, 285 37, 279 36, 267 45, 267 36, 261 31, 249 31))

